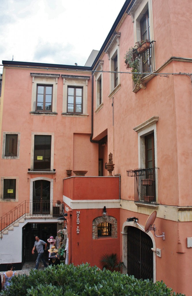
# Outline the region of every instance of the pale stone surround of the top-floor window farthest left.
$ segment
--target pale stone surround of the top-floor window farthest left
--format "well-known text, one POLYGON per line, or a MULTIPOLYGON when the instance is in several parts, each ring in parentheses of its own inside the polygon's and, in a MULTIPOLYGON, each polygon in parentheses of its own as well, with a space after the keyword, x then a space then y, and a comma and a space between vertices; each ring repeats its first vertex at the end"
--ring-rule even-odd
POLYGON ((57 85, 60 74, 44 74, 44 73, 30 73, 32 76, 32 98, 31 98, 31 115, 51 115, 56 116, 57 112, 57 85), (37 111, 36 110, 36 97, 37 85, 53 85, 53 99, 52 99, 52 112, 37 111))

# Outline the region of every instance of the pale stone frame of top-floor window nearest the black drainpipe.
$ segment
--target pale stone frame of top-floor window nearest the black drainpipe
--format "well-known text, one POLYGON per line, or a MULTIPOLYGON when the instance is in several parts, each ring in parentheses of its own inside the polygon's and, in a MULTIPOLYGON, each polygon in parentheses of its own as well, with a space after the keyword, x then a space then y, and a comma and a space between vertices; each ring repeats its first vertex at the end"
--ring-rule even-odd
POLYGON ((88 92, 88 80, 90 76, 80 76, 80 75, 61 75, 63 78, 63 109, 62 109, 62 116, 81 116, 87 117, 87 92, 88 92), (76 113, 76 112, 67 112, 67 90, 68 86, 72 87, 82 87, 83 88, 83 112, 76 113))

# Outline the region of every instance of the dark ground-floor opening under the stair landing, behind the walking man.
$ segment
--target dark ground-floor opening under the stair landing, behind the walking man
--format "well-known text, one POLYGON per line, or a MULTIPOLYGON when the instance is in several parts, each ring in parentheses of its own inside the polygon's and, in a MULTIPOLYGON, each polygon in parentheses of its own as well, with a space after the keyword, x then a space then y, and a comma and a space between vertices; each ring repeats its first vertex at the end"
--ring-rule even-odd
MULTIPOLYGON (((48 244, 47 239, 50 236, 55 238, 57 235, 57 223, 27 223, 23 227, 22 264, 36 261, 37 252, 35 251, 35 254, 32 255, 31 251, 37 235, 48 244)), ((48 261, 48 251, 44 252, 44 258, 48 261)))

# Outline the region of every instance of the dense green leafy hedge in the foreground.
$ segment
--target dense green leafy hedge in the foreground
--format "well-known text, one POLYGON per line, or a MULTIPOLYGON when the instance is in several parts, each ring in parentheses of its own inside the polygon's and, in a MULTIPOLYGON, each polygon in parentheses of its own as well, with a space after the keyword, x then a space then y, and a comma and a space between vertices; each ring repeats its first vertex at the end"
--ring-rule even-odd
MULTIPOLYGON (((29 276, 12 278, 9 290, 0 295, 12 296, 173 296, 163 281, 138 280, 134 276, 100 270, 88 263, 79 266, 59 265, 30 271, 29 276)), ((182 294, 183 295, 183 294, 182 294)))

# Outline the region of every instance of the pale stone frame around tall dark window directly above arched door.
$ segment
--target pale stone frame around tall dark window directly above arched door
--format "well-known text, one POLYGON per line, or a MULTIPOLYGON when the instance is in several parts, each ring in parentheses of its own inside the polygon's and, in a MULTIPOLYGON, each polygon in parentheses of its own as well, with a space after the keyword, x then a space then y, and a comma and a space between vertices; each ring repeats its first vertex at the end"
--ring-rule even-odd
MULTIPOLYGON (((35 136, 51 136, 51 171, 53 171, 54 167, 54 133, 41 133, 41 132, 32 132, 31 133, 31 163, 30 169, 33 171, 33 164, 34 164, 34 143, 35 143, 35 136)), ((37 174, 40 174, 42 171, 37 171, 37 174)), ((45 174, 49 171, 43 171, 45 174)))

